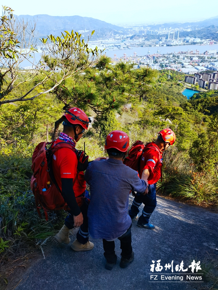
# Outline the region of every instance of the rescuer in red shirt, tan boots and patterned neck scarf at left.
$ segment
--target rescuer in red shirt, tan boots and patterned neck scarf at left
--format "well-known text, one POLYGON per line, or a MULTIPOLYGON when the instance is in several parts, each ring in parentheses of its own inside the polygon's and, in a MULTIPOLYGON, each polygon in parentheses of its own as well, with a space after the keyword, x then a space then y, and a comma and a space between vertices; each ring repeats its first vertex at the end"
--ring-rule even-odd
MULTIPOLYGON (((83 173, 86 168, 78 170, 76 155, 78 150, 75 146, 83 136, 83 132, 88 129, 90 120, 81 109, 75 107, 66 110, 62 118, 64 130, 52 146, 59 142, 66 142, 72 146, 73 150, 69 148, 57 150, 53 155, 52 168, 56 183, 70 210, 68 210, 69 215, 65 219, 64 226, 55 235, 55 239, 59 243, 69 244, 69 230, 80 227, 77 232, 77 239, 71 244, 71 248, 74 251, 89 251, 93 249, 94 244, 89 242, 88 203, 85 202, 86 182, 83 173)), ((88 166, 88 158, 86 162, 88 166)))

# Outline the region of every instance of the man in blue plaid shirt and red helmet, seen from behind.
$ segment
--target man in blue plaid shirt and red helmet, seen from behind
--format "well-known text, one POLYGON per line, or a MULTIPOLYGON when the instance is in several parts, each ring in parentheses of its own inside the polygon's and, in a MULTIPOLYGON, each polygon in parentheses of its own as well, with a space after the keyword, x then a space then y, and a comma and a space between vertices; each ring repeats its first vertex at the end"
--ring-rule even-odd
POLYGON ((123 164, 129 147, 129 137, 123 131, 107 135, 105 149, 109 158, 93 161, 85 173, 90 185, 91 200, 88 208, 88 226, 91 237, 103 239, 105 268, 116 264, 114 240, 121 243, 120 267, 126 268, 134 260, 131 246, 132 221, 128 214, 130 191, 147 193, 147 183, 138 173, 123 164))

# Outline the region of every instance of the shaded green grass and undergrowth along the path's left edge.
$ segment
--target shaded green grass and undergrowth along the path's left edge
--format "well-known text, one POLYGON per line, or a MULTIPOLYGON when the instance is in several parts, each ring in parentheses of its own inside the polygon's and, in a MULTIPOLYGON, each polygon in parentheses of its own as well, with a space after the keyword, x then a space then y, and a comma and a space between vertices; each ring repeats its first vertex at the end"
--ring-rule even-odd
MULTIPOLYGON (((40 219, 30 189, 31 159, 0 155, 0 287, 13 278, 10 273, 23 257, 32 255, 46 238, 55 235, 65 213, 50 212, 40 219)), ((41 212, 44 216, 43 211, 41 212)))

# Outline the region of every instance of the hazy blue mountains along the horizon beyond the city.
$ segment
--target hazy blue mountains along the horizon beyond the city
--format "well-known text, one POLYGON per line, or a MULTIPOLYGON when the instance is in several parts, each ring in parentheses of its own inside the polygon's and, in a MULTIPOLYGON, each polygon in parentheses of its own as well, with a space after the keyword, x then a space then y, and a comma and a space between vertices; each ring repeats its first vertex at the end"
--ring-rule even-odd
MULTIPOLYGON (((92 30, 95 30, 92 40, 111 38, 114 35, 126 35, 129 29, 107 23, 91 17, 82 16, 50 16, 46 14, 40 15, 19 15, 17 19, 24 19, 31 21, 32 23, 36 21, 36 38, 46 37, 47 35, 53 34, 55 36, 61 35, 64 30, 78 31, 82 33, 83 38, 86 40, 88 35, 91 34, 92 30)), ((200 30, 183 31, 180 33, 180 37, 199 37, 200 39, 214 39, 218 41, 218 16, 211 17, 204 21, 198 22, 186 22, 186 23, 164 23, 158 25, 149 25, 151 29, 157 29, 157 27, 165 27, 172 29, 175 28, 200 28, 200 30)), ((136 35, 133 36, 133 38, 136 35)), ((147 40, 150 38, 157 38, 154 35, 146 35, 147 40)))

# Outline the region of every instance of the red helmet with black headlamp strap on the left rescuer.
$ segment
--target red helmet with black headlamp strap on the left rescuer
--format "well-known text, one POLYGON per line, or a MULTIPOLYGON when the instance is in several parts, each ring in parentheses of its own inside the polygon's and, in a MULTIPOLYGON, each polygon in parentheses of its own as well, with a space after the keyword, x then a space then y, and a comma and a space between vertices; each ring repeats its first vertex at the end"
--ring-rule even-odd
POLYGON ((62 118, 63 117, 66 117, 69 123, 74 125, 79 124, 83 127, 83 129, 86 130, 88 129, 89 123, 91 123, 90 118, 88 118, 87 115, 81 109, 76 107, 66 110, 62 118))

